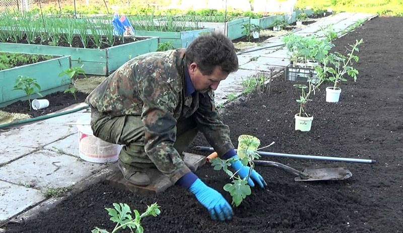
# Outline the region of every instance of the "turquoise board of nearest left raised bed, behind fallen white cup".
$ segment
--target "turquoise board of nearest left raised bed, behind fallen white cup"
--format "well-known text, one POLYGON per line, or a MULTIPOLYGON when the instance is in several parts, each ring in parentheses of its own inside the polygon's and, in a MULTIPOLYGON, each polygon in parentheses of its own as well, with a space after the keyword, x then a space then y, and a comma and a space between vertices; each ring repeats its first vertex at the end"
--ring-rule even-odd
MULTIPOLYGON (((24 65, 0 71, 0 107, 7 106, 21 99, 26 99, 22 90, 12 90, 19 75, 29 76, 36 79, 41 86, 42 95, 65 90, 69 85, 69 78, 59 73, 71 67, 71 57, 64 56, 35 64, 24 65)), ((33 95, 32 98, 38 95, 33 95)))

